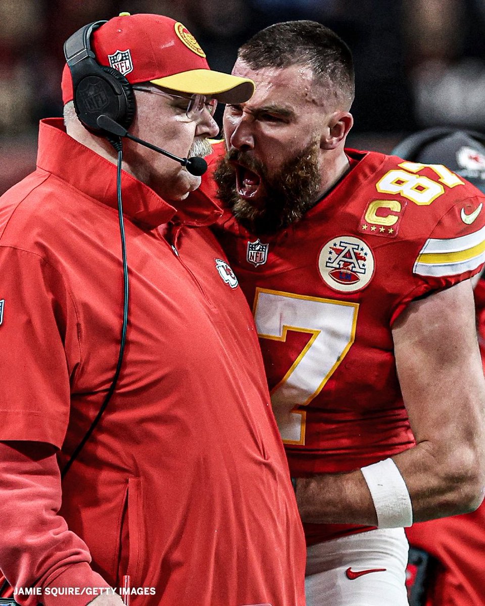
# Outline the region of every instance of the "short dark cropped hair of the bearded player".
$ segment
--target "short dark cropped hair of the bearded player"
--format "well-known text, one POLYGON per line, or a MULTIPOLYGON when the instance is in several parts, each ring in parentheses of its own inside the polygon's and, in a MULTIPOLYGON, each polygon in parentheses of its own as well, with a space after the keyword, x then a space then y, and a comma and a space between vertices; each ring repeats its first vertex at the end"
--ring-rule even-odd
POLYGON ((238 51, 253 70, 305 65, 316 84, 336 88, 352 104, 355 93, 352 52, 329 27, 316 21, 275 23, 256 33, 238 51))

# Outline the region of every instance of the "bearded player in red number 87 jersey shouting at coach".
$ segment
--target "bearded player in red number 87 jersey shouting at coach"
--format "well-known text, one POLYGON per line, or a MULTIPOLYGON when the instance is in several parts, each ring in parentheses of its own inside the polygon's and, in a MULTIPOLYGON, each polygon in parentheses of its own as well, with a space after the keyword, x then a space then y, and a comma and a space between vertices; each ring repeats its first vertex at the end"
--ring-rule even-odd
POLYGON ((345 148, 352 55, 312 21, 239 49, 219 239, 255 315, 307 538, 309 606, 404 606, 413 521, 483 499, 485 383, 469 278, 483 194, 441 165, 345 148))

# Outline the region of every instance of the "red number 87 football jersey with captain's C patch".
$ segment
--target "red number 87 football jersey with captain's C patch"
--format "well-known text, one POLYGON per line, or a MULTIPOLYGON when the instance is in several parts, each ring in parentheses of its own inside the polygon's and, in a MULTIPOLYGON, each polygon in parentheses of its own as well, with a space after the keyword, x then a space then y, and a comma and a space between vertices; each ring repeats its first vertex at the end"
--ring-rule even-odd
MULTIPOLYGON (((230 211, 219 225, 253 308, 293 476, 412 447, 392 324, 410 301, 470 278, 485 260, 475 187, 442 165, 346 153, 352 170, 301 221, 260 238, 230 211)), ((362 530, 345 528, 307 525, 307 540, 362 530)))

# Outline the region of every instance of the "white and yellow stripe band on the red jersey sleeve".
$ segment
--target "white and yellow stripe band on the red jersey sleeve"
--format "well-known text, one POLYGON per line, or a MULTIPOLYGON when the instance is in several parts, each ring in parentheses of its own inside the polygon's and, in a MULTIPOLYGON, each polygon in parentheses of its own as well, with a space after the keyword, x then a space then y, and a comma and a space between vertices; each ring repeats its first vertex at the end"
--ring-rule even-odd
POLYGON ((454 276, 473 271, 485 262, 485 227, 460 238, 430 238, 416 259, 413 273, 419 276, 454 276))

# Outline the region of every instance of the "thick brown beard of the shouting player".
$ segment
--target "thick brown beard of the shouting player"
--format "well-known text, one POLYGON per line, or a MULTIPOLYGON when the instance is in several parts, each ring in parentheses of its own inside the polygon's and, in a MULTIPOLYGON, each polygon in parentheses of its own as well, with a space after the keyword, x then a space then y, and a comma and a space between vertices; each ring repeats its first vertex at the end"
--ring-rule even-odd
POLYGON ((219 186, 217 197, 232 209, 233 215, 255 235, 271 234, 299 221, 318 201, 321 178, 318 144, 312 142, 295 158, 281 165, 273 176, 258 160, 244 151, 231 150, 219 161, 214 173, 219 186), (263 204, 255 206, 240 198, 236 190, 236 161, 261 178, 266 196, 263 204))

